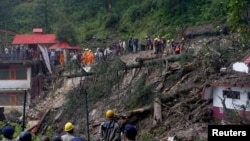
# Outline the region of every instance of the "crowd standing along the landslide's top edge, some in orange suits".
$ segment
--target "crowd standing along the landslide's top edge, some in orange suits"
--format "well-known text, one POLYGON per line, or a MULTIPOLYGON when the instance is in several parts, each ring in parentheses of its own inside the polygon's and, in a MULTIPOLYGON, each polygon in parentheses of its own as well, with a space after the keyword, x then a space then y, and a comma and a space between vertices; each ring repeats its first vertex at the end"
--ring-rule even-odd
MULTIPOLYGON (((176 42, 174 39, 166 40, 163 37, 151 38, 146 36, 139 42, 138 38, 131 37, 128 41, 119 40, 106 48, 97 47, 95 49, 85 48, 80 51, 70 51, 70 60, 78 60, 81 64, 92 64, 99 60, 106 60, 111 56, 120 56, 126 53, 136 53, 138 51, 152 50, 158 57, 163 55, 178 55, 184 51, 185 38, 181 42, 176 42), (95 50, 95 51, 94 51, 95 50)), ((64 53, 50 51, 49 56, 52 64, 63 64, 65 57, 64 53), (57 55, 56 55, 57 54, 57 55)))

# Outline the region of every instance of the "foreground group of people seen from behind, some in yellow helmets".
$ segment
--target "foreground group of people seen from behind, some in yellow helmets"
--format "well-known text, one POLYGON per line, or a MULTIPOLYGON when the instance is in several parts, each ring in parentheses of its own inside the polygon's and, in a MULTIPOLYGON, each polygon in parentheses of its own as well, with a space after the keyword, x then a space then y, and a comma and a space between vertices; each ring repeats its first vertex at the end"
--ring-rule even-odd
MULTIPOLYGON (((14 137, 15 129, 11 125, 2 127, 2 141, 32 141, 32 130, 35 126, 21 132, 18 137, 14 137)), ((56 134, 51 139, 42 136, 41 141, 86 141, 83 137, 74 135, 74 125, 67 122, 64 126, 65 133, 63 135, 56 134)), ((128 118, 123 117, 117 120, 113 110, 107 110, 105 113, 105 121, 99 127, 98 139, 96 141, 135 141, 137 135, 136 126, 128 123, 128 118)))

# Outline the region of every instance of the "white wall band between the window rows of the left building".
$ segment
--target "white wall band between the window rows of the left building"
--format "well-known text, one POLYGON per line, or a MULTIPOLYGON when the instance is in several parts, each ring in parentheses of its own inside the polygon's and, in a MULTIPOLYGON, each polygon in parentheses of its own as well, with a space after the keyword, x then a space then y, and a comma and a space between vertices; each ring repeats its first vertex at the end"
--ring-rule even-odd
POLYGON ((27 69, 27 80, 0 80, 0 91, 30 89, 31 68, 27 69))

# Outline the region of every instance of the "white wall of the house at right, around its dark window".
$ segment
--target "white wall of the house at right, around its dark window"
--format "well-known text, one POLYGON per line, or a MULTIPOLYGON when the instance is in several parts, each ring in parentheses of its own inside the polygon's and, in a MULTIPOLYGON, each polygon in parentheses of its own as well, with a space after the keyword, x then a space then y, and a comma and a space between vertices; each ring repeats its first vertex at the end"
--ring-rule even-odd
MULTIPOLYGON (((228 90, 227 87, 213 87, 213 106, 222 107, 221 99, 223 99, 223 90, 228 90), (220 98, 219 98, 220 97, 220 98)), ((240 87, 231 87, 232 91, 240 92, 240 99, 226 98, 225 104, 228 109, 240 109, 240 105, 245 105, 248 101, 248 92, 250 88, 240 88, 240 87)), ((242 110, 242 109, 241 109, 242 110)), ((246 109, 250 111, 250 107, 246 109)))

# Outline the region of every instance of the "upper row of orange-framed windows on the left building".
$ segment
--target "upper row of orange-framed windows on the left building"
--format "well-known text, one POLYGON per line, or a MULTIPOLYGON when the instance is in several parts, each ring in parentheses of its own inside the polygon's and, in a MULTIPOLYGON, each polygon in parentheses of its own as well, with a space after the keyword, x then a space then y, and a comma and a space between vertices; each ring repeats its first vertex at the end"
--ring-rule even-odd
POLYGON ((0 80, 27 80, 27 68, 1 66, 0 80))

